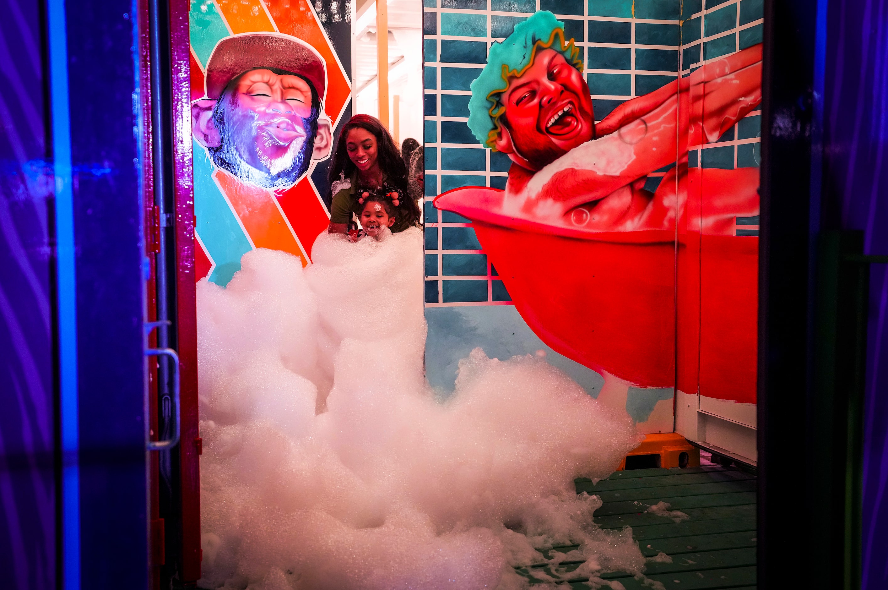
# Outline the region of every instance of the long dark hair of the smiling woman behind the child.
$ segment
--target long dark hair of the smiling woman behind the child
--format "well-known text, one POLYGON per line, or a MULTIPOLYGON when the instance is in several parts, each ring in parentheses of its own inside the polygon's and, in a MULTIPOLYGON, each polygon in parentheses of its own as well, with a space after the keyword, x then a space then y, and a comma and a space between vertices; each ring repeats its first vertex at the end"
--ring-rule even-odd
MULTIPOLYGON (((330 166, 330 183, 343 177, 351 178, 357 169, 352 159, 348 157, 348 150, 345 148, 348 132, 356 127, 372 133, 373 137, 377 139, 377 161, 379 169, 385 174, 385 182, 400 188, 407 195, 407 166, 404 165, 404 160, 400 157, 398 147, 394 145, 392 135, 380 123, 379 119, 369 115, 355 115, 343 125, 342 132, 339 133, 339 140, 337 140, 336 152, 333 154, 333 165, 330 166)), ((416 225, 421 217, 419 205, 413 199, 404 199, 398 207, 398 215, 407 219, 411 226, 416 225)))

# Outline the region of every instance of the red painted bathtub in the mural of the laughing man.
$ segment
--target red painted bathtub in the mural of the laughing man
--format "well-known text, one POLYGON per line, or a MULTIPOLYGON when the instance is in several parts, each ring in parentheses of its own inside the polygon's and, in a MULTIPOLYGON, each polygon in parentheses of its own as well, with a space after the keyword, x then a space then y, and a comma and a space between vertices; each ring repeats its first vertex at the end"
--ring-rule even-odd
POLYGON ((758 212, 758 170, 683 163, 681 183, 674 170, 653 201, 686 203, 678 234, 674 212, 637 231, 516 219, 493 212, 505 194, 488 187, 456 188, 435 206, 472 219, 520 315, 560 354, 638 387, 678 380, 687 393, 699 384, 703 395, 755 403, 758 238, 733 234, 735 216, 758 212))

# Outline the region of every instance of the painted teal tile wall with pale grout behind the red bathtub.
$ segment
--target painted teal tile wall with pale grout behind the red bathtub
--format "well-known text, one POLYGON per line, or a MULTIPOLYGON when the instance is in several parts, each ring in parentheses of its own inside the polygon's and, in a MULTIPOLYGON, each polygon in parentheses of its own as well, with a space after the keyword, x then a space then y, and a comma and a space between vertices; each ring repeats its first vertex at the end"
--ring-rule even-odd
MULTIPOLYGON (((554 12, 565 23, 567 37, 575 39, 597 121, 625 100, 690 75, 702 60, 737 52, 762 37, 763 0, 424 0, 424 6, 424 145, 426 170, 432 172, 426 174, 426 203, 457 187, 505 187, 511 160, 482 147, 466 124, 470 84, 484 66, 490 44, 509 36, 537 10, 554 12)), ((757 167, 760 124, 759 112, 752 113, 718 142, 692 149, 688 166, 757 167)), ((670 167, 652 172, 645 188, 656 190, 670 167)), ((424 220, 428 357, 449 359, 443 369, 437 362, 428 365, 432 385, 445 393, 452 390, 455 363, 471 350, 472 339, 488 355, 504 358, 546 350, 511 306, 472 223, 428 204, 424 220), (501 334, 503 326, 514 326, 515 335, 501 334), (455 336, 459 331, 465 332, 455 336), (464 340, 467 348, 445 350, 444 343, 452 345, 454 338, 464 340)), ((558 356, 549 351, 548 359, 558 356)), ((557 362, 564 367, 573 363, 565 357, 557 362)), ((571 376, 597 395, 599 375, 574 365, 571 376)), ((630 397, 641 397, 632 398, 627 407, 650 413, 656 403, 670 399, 670 391, 632 391, 630 397)))

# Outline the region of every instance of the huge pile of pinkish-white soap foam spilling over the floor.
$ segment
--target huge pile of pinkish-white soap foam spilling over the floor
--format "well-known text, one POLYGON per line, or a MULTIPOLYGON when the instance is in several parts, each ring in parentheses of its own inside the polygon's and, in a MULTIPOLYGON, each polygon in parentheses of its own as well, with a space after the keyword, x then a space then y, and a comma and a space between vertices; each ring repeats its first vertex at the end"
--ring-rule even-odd
POLYGON ((629 417, 542 356, 480 348, 437 400, 422 239, 325 234, 305 269, 256 250, 225 289, 198 283, 200 586, 521 588, 515 567, 547 562, 533 571, 551 585, 640 575, 630 530, 598 529, 601 500, 573 482, 638 444, 629 417))

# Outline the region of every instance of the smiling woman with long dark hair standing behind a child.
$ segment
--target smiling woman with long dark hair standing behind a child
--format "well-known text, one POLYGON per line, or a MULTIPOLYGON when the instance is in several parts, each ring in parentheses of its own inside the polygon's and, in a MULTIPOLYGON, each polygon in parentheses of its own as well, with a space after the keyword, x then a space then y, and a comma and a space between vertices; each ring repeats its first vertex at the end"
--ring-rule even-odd
MULTIPOLYGON (((407 167, 398 148, 383 124, 369 115, 355 115, 343 126, 329 179, 333 193, 328 228, 331 234, 345 234, 352 214, 361 214, 360 190, 389 186, 408 194, 407 167)), ((403 199, 392 233, 418 225, 419 217, 416 201, 403 199)))

